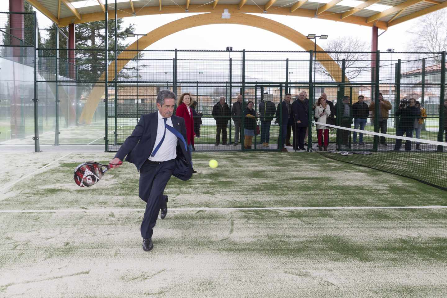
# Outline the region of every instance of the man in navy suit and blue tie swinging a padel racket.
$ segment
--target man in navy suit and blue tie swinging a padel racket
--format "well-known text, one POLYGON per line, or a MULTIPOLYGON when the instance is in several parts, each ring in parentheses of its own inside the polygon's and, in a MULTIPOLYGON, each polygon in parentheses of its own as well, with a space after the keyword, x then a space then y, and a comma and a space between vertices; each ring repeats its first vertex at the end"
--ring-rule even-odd
POLYGON ((171 175, 181 180, 192 176, 191 155, 186 144, 185 120, 173 115, 176 95, 169 90, 157 94, 158 112, 143 115, 132 134, 124 141, 111 167, 119 167, 126 157, 140 172, 139 197, 146 202, 141 236, 143 250, 150 251, 153 227, 158 213, 163 219, 168 212, 164 188, 171 175))

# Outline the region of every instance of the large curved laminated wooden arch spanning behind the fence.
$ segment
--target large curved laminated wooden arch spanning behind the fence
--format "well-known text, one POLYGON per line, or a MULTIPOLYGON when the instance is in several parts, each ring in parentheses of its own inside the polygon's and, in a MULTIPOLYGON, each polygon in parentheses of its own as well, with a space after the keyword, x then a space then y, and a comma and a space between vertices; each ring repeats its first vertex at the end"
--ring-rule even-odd
MULTIPOLYGON (((223 19, 222 13, 204 13, 198 14, 190 17, 181 18, 179 20, 170 22, 168 24, 162 25, 151 32, 148 33, 147 36, 142 36, 139 38, 139 48, 145 49, 148 46, 152 45, 154 42, 159 41, 160 39, 167 37, 171 34, 177 33, 181 30, 202 26, 202 25, 212 25, 212 24, 235 24, 235 25, 247 25, 256 27, 259 29, 264 29, 270 31, 272 33, 278 34, 284 38, 287 38, 291 42, 295 42, 298 46, 302 47, 304 50, 313 50, 314 42, 311 39, 308 39, 303 34, 299 33, 295 29, 292 29, 286 25, 283 25, 277 21, 273 21, 267 19, 265 17, 259 17, 252 14, 247 13, 235 13, 231 14, 231 18, 223 19)), ((137 50, 137 42, 135 41, 130 46, 126 48, 126 50, 137 50)), ((316 46, 317 51, 323 51, 322 48, 316 46)), ((118 55, 118 73, 122 70, 122 68, 133 58, 129 55, 129 51, 123 51, 120 55, 118 55)), ((136 56, 136 52, 135 52, 136 56)), ((325 69, 332 76, 333 80, 336 82, 342 81, 342 70, 338 66, 338 64, 326 53, 319 53, 317 55, 317 59, 320 61, 320 64, 325 67, 325 69)), ((110 63, 108 68, 108 79, 113 80, 115 77, 115 62, 110 63)), ((105 74, 101 75, 100 80, 105 80, 105 74)), ((345 77, 345 82, 349 82, 349 80, 345 77)), ((99 103, 101 102, 101 97, 104 94, 104 82, 97 83, 90 95, 87 99, 84 108, 82 109, 82 113, 79 118, 80 123, 90 124, 93 119, 93 114, 95 113, 99 103)))

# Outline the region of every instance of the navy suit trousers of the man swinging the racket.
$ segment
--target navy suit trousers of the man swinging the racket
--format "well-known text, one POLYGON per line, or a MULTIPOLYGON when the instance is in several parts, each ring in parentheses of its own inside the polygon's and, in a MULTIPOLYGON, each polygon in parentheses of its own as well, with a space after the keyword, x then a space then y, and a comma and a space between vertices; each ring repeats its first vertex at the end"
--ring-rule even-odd
POLYGON ((163 200, 164 188, 175 168, 175 159, 153 164, 146 161, 140 169, 139 197, 146 202, 141 237, 151 238, 160 208, 166 206, 163 200))

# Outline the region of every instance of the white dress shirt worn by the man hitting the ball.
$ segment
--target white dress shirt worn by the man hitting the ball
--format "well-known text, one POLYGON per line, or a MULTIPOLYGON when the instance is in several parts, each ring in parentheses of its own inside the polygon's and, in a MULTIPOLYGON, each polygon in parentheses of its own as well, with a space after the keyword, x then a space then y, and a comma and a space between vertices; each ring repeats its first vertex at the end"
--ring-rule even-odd
MULTIPOLYGON (((158 115, 158 126, 157 126, 157 137, 155 139, 154 148, 152 149, 152 152, 155 150, 155 148, 158 146, 158 143, 160 143, 161 139, 163 138, 164 134, 164 119, 163 116, 161 116, 160 111, 157 113, 158 115)), ((168 118, 166 121, 166 125, 169 125, 173 127, 172 125, 172 119, 171 117, 168 118)), ((149 156, 149 160, 152 161, 166 161, 171 160, 177 157, 177 137, 175 134, 170 132, 168 129, 166 129, 166 135, 164 136, 163 143, 161 143, 160 148, 158 148, 157 153, 154 157, 149 156)))

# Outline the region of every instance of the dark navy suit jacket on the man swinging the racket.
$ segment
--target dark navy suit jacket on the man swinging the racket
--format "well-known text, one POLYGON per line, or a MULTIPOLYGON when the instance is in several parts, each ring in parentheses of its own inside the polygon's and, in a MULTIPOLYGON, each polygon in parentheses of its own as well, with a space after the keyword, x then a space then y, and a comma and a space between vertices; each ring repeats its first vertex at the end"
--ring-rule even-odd
MULTIPOLYGON (((115 157, 135 164, 138 171, 151 155, 157 137, 158 112, 142 115, 132 134, 127 137, 119 148, 115 157)), ((173 127, 178 130, 186 140, 185 120, 172 115, 173 127)), ((181 180, 188 180, 192 176, 191 155, 185 149, 185 145, 180 138, 177 138, 177 158, 175 159, 175 170, 173 176, 181 180)))

